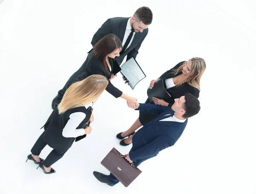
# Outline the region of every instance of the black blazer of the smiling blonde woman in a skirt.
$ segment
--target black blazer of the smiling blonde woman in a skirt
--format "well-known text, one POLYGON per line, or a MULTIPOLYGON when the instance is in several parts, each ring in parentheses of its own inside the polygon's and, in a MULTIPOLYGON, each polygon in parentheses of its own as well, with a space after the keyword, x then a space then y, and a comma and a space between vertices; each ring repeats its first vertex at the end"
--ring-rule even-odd
MULTIPOLYGON (((173 78, 176 77, 177 75, 182 74, 182 72, 178 72, 176 75, 174 73, 173 70, 179 68, 180 66, 183 65, 183 63, 185 63, 186 61, 182 61, 180 63, 178 63, 176 66, 174 66, 173 68, 171 68, 169 71, 166 71, 164 74, 162 74, 159 78, 162 80, 168 79, 168 78, 173 78)), ((168 106, 172 106, 174 103, 174 99, 175 98, 180 98, 181 96, 183 96, 184 94, 186 94, 187 92, 189 92, 190 94, 194 95, 195 97, 199 97, 199 90, 198 88, 195 88, 193 86, 190 86, 187 82, 181 84, 181 86, 174 86, 172 88, 167 89, 166 91, 168 91, 168 93, 171 95, 171 97, 163 99, 165 100, 167 103, 169 103, 168 106)))

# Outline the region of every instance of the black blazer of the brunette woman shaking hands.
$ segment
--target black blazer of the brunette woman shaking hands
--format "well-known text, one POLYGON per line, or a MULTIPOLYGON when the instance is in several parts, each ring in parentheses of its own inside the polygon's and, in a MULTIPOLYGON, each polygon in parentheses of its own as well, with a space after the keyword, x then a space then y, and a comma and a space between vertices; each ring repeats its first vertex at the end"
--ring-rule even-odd
MULTIPOLYGON (((87 59, 84 62, 85 66, 86 66, 85 72, 82 73, 79 77, 77 77, 75 82, 84 80, 86 77, 89 77, 90 75, 95 75, 95 74, 103 75, 108 79, 111 77, 111 74, 113 72, 113 59, 109 58, 109 62, 111 65, 111 71, 108 68, 109 73, 107 73, 103 67, 101 60, 94 57, 92 54, 93 54, 93 52, 91 52, 89 54, 89 57, 87 57, 87 59)), ((113 86, 113 84, 110 81, 108 83, 106 90, 116 98, 118 98, 122 95, 122 91, 120 91, 115 86, 113 86)))

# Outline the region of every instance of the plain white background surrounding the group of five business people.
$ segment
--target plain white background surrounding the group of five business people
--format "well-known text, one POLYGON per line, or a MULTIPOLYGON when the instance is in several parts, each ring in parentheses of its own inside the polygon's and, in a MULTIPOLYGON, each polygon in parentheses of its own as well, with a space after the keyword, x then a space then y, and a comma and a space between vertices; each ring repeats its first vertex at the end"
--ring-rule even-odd
MULTIPOLYGON (((253 0, 5 0, 0 4, 1 194, 255 194, 255 45, 253 0), (93 171, 111 148, 123 154, 116 134, 138 111, 104 92, 94 107, 93 131, 46 175, 26 161, 51 102, 87 57, 93 34, 110 17, 131 17, 140 6, 153 12, 137 55, 146 74, 134 90, 121 75, 111 81, 143 103, 152 79, 183 60, 202 57, 201 111, 177 143, 139 168, 128 187, 100 183, 93 171)), ((51 149, 46 147, 41 157, 51 149)))

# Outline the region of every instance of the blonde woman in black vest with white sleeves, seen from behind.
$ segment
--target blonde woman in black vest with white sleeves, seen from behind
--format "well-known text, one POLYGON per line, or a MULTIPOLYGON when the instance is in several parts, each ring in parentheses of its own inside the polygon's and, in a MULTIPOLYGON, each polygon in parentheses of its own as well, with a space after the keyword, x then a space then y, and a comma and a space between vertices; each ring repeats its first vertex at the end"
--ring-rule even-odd
POLYGON ((36 141, 28 155, 28 160, 39 164, 45 174, 56 171, 51 165, 57 162, 71 147, 76 137, 90 134, 91 127, 87 123, 93 122, 93 114, 86 106, 95 103, 108 86, 109 80, 98 74, 73 83, 65 92, 58 108, 52 111, 42 128, 44 132, 36 141), (87 127, 82 128, 87 124, 87 127), (43 148, 49 145, 53 150, 45 160, 39 157, 43 148))

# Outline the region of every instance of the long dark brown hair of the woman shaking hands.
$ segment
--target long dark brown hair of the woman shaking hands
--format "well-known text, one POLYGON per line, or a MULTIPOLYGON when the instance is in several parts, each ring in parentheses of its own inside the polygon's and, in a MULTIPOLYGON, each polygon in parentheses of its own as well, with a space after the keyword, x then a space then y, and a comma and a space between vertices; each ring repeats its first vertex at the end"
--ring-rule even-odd
POLYGON ((106 57, 108 54, 116 50, 116 48, 121 48, 122 50, 122 42, 115 34, 106 35, 93 46, 91 56, 99 58, 102 61, 103 67, 108 74, 110 72, 108 71, 106 57))

